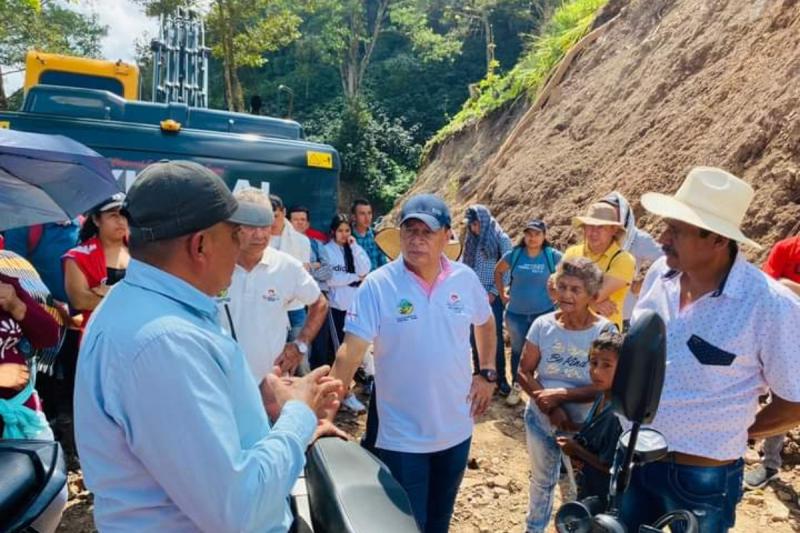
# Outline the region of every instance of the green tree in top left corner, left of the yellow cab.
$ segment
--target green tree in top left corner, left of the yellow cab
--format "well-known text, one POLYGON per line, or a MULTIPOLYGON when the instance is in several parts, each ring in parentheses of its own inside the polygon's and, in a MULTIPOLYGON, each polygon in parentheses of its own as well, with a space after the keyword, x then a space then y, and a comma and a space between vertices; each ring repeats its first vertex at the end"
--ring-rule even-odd
POLYGON ((28 50, 97 57, 107 28, 54 0, 0 1, 0 109, 6 109, 2 66, 21 68, 28 50))

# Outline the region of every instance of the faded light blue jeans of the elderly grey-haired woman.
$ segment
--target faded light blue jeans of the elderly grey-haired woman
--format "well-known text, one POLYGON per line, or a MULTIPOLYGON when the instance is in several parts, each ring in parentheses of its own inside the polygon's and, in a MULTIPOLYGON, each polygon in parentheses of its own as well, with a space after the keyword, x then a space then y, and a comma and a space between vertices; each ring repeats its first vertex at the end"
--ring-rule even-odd
POLYGON ((535 404, 525 407, 525 433, 531 461, 531 485, 528 500, 526 531, 544 533, 553 512, 553 494, 561 473, 561 449, 557 432, 550 419, 535 404))

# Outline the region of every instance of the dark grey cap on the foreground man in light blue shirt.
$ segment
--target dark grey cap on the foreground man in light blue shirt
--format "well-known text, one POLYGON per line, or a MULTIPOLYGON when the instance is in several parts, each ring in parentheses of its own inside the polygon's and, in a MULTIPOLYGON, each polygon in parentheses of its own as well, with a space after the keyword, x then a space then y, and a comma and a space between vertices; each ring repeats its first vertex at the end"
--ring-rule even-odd
POLYGON ((122 211, 134 241, 174 239, 230 220, 238 202, 222 178, 192 161, 164 161, 133 182, 122 211))

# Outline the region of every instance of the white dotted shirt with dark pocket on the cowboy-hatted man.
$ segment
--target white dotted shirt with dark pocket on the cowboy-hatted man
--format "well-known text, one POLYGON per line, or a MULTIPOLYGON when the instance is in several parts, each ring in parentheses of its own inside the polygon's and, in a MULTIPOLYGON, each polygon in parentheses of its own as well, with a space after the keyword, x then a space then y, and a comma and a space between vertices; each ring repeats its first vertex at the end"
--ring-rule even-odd
POLYGON ((720 288, 680 309, 681 273, 647 273, 633 319, 666 323, 667 368, 652 427, 673 451, 737 459, 767 389, 800 402, 800 299, 738 254, 720 288))

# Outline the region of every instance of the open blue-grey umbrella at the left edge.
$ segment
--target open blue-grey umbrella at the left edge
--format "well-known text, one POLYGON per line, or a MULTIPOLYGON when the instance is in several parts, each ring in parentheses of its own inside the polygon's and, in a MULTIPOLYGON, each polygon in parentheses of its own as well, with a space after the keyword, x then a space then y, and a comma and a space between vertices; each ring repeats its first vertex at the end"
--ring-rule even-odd
POLYGON ((0 230, 68 220, 118 192, 94 150, 61 135, 0 129, 0 230))

